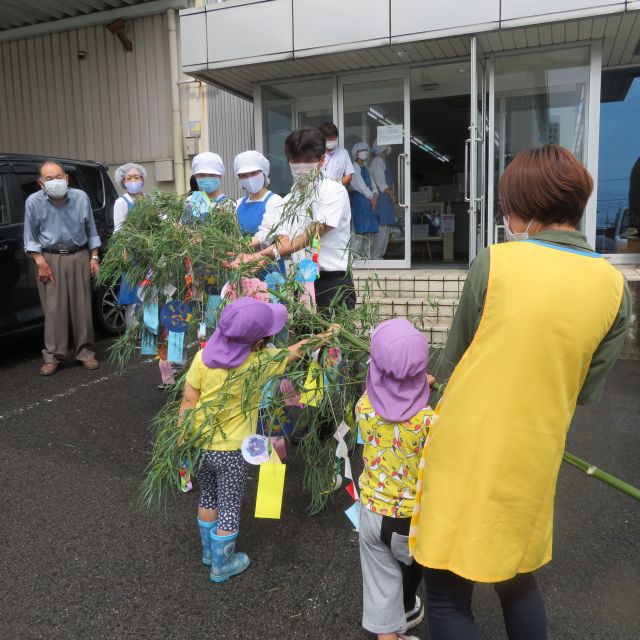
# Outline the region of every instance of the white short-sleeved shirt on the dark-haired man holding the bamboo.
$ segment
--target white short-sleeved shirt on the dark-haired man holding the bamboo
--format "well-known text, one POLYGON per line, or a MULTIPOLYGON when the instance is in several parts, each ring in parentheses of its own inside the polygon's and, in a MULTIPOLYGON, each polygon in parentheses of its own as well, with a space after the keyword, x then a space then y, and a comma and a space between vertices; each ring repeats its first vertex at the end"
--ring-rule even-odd
MULTIPOLYGON (((287 211, 287 202, 291 194, 284 197, 285 220, 282 221, 278 235, 288 236, 291 240, 301 235, 310 224, 317 222, 331 227, 320 238, 318 264, 320 271, 346 271, 349 266, 349 240, 351 239, 351 207, 347 190, 335 180, 321 177, 318 189, 312 197, 311 211, 301 207, 297 212, 287 211)), ((313 249, 305 247, 291 256, 293 262, 311 258, 313 249)))

